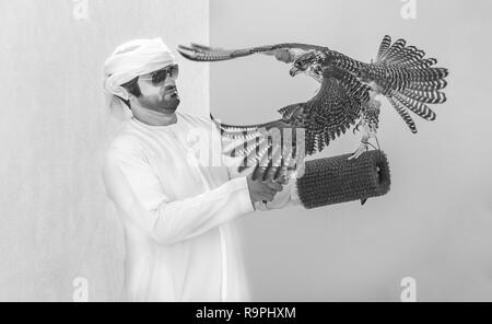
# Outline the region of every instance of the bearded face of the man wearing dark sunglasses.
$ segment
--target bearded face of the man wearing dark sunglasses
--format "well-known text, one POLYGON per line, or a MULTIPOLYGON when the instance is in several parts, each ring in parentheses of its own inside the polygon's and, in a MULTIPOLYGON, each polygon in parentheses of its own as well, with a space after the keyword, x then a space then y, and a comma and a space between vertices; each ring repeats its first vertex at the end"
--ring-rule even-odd
POLYGON ((138 84, 142 95, 137 97, 140 105, 159 113, 174 113, 179 105, 176 88, 177 66, 140 76, 138 84))

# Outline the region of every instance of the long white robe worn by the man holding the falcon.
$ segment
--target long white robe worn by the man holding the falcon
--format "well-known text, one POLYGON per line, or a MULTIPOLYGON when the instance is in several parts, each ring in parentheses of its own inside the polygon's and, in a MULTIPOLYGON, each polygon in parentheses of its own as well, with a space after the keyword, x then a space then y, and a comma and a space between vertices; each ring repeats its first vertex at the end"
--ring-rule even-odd
POLYGON ((212 121, 179 113, 177 120, 131 118, 106 154, 103 177, 125 229, 122 299, 248 301, 234 220, 298 204, 293 182, 272 202, 253 206, 244 175, 231 180, 229 167, 192 163, 190 134, 210 134, 212 121))

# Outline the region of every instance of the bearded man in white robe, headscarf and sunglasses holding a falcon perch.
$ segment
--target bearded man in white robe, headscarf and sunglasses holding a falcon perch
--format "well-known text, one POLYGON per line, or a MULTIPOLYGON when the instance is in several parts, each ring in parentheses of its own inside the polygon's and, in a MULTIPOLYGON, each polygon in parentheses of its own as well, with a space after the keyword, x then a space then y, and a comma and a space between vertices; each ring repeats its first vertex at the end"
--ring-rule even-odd
POLYGON ((103 170, 125 229, 125 299, 247 301, 235 220, 295 201, 293 182, 191 163, 189 134, 212 121, 176 112, 178 67, 160 38, 119 46, 104 68, 109 104, 132 113, 103 170))

